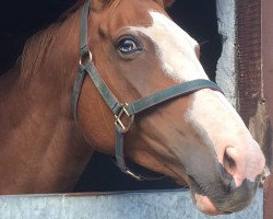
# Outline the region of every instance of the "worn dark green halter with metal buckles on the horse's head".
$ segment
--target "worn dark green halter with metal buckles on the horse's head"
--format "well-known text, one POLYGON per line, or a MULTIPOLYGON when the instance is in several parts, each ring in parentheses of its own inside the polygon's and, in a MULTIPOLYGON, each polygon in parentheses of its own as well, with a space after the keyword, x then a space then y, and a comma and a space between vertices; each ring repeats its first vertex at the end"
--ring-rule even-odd
POLYGON ((157 93, 151 94, 149 96, 142 97, 131 104, 121 104, 116 96, 111 93, 111 91, 107 88, 104 80, 100 78, 97 72, 93 61, 92 55, 87 46, 87 16, 90 12, 91 1, 86 0, 82 8, 81 15, 81 42, 80 42, 80 68, 79 73, 74 83, 73 93, 72 93, 72 111, 74 115, 74 119, 76 122, 78 117, 78 101, 81 93, 81 88, 85 78, 86 72, 93 80, 94 84, 98 89, 105 102, 108 104, 109 108, 114 113, 116 117, 115 129, 116 129, 116 160, 117 165, 120 170, 136 180, 146 180, 140 174, 132 172, 129 168, 127 168, 124 162, 124 153, 123 153, 123 136, 130 129, 133 124, 134 115, 147 110, 152 106, 158 105, 166 101, 174 100, 175 97, 187 95, 193 92, 197 92, 201 89, 212 89, 216 91, 221 91, 221 89, 212 81, 209 80, 193 80, 188 81, 157 93), (84 61, 83 61, 84 60, 84 61), (123 123, 127 120, 127 123, 123 123))

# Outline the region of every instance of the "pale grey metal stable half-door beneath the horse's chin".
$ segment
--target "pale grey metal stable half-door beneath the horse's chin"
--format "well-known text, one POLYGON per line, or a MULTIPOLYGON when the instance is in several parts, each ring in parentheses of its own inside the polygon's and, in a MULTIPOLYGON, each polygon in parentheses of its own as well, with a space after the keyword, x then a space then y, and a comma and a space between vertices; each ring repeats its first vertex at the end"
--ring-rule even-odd
MULTIPOLYGON (((189 192, 0 196, 1 219, 203 219, 189 192)), ((219 219, 262 219, 262 191, 245 211, 219 219)))

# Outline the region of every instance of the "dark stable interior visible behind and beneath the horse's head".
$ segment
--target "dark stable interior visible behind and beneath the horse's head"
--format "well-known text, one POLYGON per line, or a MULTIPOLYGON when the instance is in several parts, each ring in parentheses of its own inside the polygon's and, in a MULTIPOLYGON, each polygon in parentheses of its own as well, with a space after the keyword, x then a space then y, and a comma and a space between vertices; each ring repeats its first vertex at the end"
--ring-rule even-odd
MULTIPOLYGON (((74 0, 3 2, 0 8, 0 74, 14 65, 31 35, 52 23, 73 2, 74 0)), ((222 51, 215 0, 177 0, 168 12, 200 43, 201 62, 209 77, 215 80, 216 64, 222 51)), ((95 153, 75 186, 75 192, 159 188, 177 188, 177 185, 169 178, 136 182, 121 173, 108 157, 95 153)))

